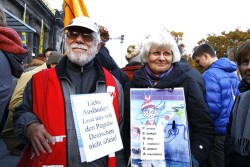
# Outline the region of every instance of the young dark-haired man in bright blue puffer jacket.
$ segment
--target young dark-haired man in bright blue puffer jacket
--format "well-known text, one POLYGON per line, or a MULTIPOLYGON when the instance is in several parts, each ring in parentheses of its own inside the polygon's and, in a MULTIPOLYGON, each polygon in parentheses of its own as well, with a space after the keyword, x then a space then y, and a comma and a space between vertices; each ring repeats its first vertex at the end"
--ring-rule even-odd
POLYGON ((215 141, 210 152, 209 167, 223 167, 226 126, 235 96, 239 94, 237 65, 228 58, 218 59, 214 48, 209 44, 198 46, 194 53, 198 66, 203 68, 205 101, 215 125, 215 141))

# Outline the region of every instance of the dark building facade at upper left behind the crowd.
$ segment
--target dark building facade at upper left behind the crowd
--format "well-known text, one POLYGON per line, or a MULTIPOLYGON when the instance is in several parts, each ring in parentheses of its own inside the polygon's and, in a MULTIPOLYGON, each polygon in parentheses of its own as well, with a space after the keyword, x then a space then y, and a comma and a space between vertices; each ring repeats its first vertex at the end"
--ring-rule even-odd
POLYGON ((43 48, 63 50, 63 12, 51 9, 45 0, 0 0, 5 9, 7 27, 15 29, 20 37, 26 32, 26 46, 29 56, 24 63, 32 60, 32 55, 39 53, 39 39, 42 20, 44 25, 43 48), (23 15, 26 5, 26 18, 23 15))

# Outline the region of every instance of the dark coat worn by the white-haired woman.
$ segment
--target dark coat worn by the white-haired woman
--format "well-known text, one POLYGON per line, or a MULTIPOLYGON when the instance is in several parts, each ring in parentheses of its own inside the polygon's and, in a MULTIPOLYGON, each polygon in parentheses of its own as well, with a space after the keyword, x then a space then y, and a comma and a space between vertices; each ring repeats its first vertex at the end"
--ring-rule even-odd
MULTIPOLYGON (((135 71, 132 81, 124 88, 124 149, 128 160, 130 156, 130 88, 151 88, 143 66, 135 71)), ((206 107, 203 95, 196 81, 186 75, 186 72, 174 63, 174 69, 166 77, 163 77, 154 88, 184 87, 187 116, 189 123, 189 136, 192 155, 204 164, 213 144, 214 126, 211 116, 206 107), (200 149, 200 146, 203 146, 200 149)))

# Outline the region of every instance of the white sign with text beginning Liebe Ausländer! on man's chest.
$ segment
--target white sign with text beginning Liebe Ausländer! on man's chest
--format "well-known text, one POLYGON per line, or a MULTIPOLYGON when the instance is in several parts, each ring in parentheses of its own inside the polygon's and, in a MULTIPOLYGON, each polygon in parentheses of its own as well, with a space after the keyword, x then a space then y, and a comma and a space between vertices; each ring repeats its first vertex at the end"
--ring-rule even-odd
POLYGON ((81 162, 91 162, 123 148, 109 93, 71 95, 81 162))

